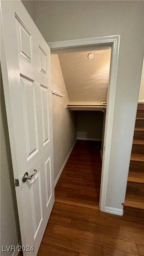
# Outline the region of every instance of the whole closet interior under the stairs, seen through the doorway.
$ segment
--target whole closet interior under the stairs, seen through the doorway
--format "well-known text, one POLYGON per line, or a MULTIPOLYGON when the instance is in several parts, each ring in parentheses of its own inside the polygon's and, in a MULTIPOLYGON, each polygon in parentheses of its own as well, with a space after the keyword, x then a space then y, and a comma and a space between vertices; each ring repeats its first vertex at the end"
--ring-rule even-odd
POLYGON ((110 47, 51 55, 56 201, 97 207, 95 197, 86 200, 90 191, 73 195, 71 189, 79 182, 82 188, 97 188, 98 205, 110 59, 110 47))

